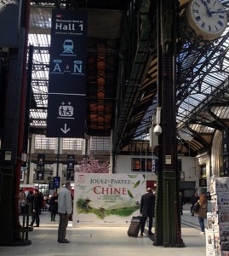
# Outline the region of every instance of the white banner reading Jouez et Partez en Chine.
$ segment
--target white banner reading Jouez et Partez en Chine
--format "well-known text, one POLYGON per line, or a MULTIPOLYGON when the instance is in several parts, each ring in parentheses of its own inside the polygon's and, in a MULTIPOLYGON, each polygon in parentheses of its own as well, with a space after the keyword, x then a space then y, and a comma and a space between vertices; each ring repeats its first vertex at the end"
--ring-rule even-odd
POLYGON ((73 225, 129 225, 145 192, 144 174, 75 173, 73 225))

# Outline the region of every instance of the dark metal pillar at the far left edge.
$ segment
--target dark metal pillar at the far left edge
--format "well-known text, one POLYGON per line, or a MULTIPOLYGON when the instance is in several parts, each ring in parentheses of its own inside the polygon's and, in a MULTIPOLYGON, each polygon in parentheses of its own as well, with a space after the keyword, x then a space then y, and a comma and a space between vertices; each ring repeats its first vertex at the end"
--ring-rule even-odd
POLYGON ((23 246, 31 244, 24 239, 25 227, 21 227, 19 218, 19 192, 21 154, 24 153, 24 120, 26 96, 26 48, 30 16, 30 1, 23 2, 21 7, 21 20, 19 42, 17 48, 9 49, 9 76, 7 83, 3 84, 6 95, 4 104, 3 138, 0 163, 0 246, 23 246), (8 200, 9 207, 3 199, 8 200))

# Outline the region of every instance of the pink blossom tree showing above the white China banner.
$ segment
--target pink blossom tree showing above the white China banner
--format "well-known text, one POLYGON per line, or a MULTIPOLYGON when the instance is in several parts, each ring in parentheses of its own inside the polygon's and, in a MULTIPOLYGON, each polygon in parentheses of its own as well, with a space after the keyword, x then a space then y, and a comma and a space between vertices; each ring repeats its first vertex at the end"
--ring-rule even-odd
POLYGON ((85 173, 109 173, 109 163, 99 162, 99 160, 95 160, 94 157, 84 157, 78 163, 77 172, 85 172, 85 173))

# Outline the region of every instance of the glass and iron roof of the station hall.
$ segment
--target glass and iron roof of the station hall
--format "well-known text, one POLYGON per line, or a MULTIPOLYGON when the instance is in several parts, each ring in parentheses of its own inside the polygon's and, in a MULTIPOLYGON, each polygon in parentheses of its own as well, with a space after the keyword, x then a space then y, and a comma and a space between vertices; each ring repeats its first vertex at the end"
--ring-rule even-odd
MULTIPOLYGON (((6 1, 0 1, 0 4, 3 2, 6 1)), ((146 1, 31 1, 29 44, 34 47, 32 132, 45 133, 46 127, 51 10, 68 7, 89 9, 86 134, 110 136, 113 133, 114 153, 122 152, 131 140, 147 136, 157 107, 157 50, 151 49, 146 38, 140 38, 136 51, 141 61, 136 77, 131 77, 130 73, 129 79, 123 81, 125 90, 118 85, 121 83, 120 72, 125 71, 120 64, 123 61, 123 14, 127 15, 134 3, 138 3, 146 15, 153 15, 146 1)), ((187 3, 180 1, 181 19, 187 3)), ((229 1, 220 0, 220 3, 228 12, 229 1)), ((155 26, 153 19, 151 26, 155 26)), ((146 33, 150 31, 144 29, 146 33)), ((176 95, 180 154, 195 155, 208 150, 215 132, 229 126, 228 33, 229 27, 220 38, 210 43, 196 44, 186 38, 180 40, 176 95)), ((152 31, 153 37, 157 35, 152 31)))

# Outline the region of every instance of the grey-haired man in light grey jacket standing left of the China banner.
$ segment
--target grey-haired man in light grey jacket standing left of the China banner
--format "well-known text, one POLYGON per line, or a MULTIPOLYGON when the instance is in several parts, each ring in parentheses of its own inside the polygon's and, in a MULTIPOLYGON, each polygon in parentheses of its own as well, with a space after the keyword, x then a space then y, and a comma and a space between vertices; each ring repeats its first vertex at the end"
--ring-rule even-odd
POLYGON ((58 238, 60 243, 68 243, 66 240, 66 227, 70 215, 72 214, 72 196, 71 196, 71 183, 66 182, 58 195, 58 212, 60 215, 58 238))

